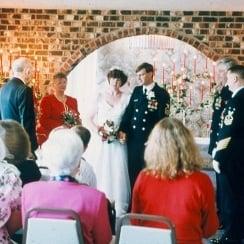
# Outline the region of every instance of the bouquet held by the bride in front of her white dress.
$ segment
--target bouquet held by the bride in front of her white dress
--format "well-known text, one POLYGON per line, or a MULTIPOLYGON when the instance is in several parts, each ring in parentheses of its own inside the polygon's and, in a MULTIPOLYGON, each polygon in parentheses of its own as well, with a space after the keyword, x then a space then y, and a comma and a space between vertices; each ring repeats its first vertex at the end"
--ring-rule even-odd
POLYGON ((103 126, 98 130, 98 134, 102 137, 102 141, 108 143, 113 142, 117 139, 118 127, 115 126, 111 120, 106 120, 103 126))

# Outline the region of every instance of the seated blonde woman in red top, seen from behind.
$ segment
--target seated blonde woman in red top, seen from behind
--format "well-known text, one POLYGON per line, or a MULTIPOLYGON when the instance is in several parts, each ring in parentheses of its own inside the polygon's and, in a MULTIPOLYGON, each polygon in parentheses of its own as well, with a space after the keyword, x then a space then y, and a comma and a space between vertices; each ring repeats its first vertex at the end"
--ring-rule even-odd
POLYGON ((168 217, 177 243, 200 244, 213 235, 218 229, 214 189, 199 171, 202 160, 190 131, 176 119, 161 120, 149 137, 145 161, 133 189, 132 212, 168 217))

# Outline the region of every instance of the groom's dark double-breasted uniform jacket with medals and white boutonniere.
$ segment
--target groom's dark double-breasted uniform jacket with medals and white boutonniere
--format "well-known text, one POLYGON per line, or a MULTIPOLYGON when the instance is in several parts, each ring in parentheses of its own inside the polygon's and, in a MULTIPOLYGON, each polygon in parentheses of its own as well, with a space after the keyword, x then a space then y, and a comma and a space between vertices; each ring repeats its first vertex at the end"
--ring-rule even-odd
POLYGON ((128 140, 139 139, 145 142, 154 125, 169 115, 170 96, 156 83, 147 95, 143 86, 134 89, 129 104, 122 117, 120 130, 127 134, 128 140))

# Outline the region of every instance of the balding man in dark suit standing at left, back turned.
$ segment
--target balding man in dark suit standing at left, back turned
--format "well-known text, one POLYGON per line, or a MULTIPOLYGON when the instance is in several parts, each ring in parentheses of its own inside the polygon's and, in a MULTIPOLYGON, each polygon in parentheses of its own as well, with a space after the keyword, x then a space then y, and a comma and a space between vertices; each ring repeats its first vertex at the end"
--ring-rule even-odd
POLYGON ((0 90, 0 119, 19 122, 27 131, 32 152, 37 149, 35 112, 32 89, 27 86, 32 79, 33 68, 27 58, 13 62, 13 77, 0 90))

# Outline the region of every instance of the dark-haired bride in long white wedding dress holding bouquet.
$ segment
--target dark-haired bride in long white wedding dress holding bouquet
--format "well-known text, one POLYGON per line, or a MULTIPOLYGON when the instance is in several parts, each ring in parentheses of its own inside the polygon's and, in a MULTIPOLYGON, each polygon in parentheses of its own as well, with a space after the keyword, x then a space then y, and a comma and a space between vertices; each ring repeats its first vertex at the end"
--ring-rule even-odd
POLYGON ((127 147, 116 139, 130 94, 121 91, 127 76, 118 69, 108 75, 109 86, 97 97, 91 112, 92 140, 84 157, 94 167, 97 188, 115 202, 116 216, 126 213, 130 201, 127 147))

